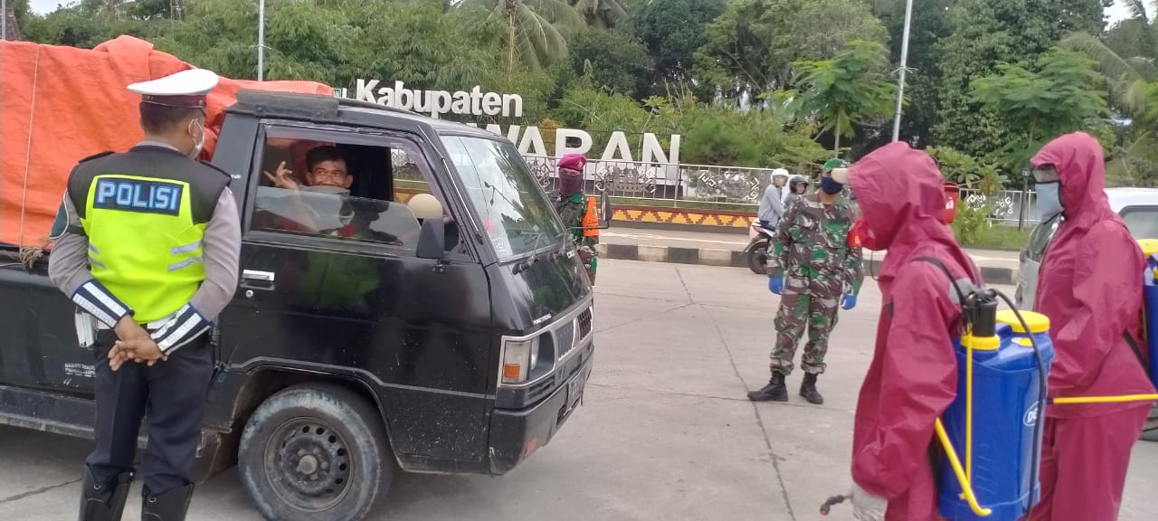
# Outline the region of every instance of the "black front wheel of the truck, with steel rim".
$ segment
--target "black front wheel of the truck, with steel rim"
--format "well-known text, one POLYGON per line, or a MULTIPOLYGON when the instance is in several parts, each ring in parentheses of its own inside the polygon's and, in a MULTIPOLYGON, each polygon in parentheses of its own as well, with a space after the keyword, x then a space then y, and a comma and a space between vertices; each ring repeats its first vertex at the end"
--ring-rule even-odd
POLYGON ((245 424, 237 453, 241 482, 270 521, 359 521, 394 479, 382 417, 339 386, 271 396, 245 424))

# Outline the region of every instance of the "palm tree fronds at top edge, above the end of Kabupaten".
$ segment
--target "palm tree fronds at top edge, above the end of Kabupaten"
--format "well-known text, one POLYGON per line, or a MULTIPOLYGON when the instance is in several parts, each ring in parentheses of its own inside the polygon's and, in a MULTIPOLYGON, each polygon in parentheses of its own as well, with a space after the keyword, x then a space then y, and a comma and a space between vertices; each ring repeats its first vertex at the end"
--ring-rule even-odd
MULTIPOLYGON (((501 21, 507 67, 522 63, 542 69, 567 56, 567 37, 586 22, 566 0, 478 0, 491 9, 488 21, 501 21)), ((464 6, 469 2, 461 1, 464 6)))

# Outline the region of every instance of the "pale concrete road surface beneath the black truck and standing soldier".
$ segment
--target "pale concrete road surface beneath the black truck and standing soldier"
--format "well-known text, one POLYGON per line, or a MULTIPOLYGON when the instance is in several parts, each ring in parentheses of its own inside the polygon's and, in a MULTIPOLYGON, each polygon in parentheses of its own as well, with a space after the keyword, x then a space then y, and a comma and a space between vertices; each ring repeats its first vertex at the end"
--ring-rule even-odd
MULTIPOLYGON (((511 474, 401 475, 371 521, 851 521, 820 504, 849 486, 852 412, 872 355, 871 279, 831 336, 826 403, 745 398, 768 379, 777 298, 746 270, 606 260, 580 408, 511 474)), ((1012 288, 997 286, 1010 292, 1012 288)), ((0 427, 0 519, 75 519, 90 442, 0 427)), ((1134 447, 1121 521, 1158 519, 1158 443, 1134 447)), ((125 520, 139 519, 133 492, 125 520)), ((197 490, 189 521, 259 521, 235 470, 197 490)))

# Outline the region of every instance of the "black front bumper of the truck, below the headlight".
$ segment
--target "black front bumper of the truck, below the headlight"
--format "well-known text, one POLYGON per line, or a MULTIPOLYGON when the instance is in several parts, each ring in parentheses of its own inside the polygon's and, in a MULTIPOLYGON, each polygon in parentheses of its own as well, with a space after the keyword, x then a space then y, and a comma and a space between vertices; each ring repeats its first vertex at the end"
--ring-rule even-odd
POLYGON ((491 474, 500 476, 515 468, 535 450, 545 447, 559 427, 571 418, 582 402, 582 392, 591 376, 592 353, 579 370, 571 374, 550 396, 526 409, 496 409, 491 413, 490 460, 491 474))

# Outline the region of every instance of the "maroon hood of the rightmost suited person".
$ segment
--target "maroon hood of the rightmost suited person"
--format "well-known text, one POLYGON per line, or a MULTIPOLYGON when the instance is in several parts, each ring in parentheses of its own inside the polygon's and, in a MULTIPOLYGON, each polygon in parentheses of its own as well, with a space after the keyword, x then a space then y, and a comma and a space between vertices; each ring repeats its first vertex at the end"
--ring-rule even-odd
POLYGON ((1101 144, 1085 132, 1064 134, 1046 144, 1029 160, 1034 168, 1053 164, 1062 182, 1065 220, 1078 228, 1114 214, 1106 197, 1106 163, 1101 144))

